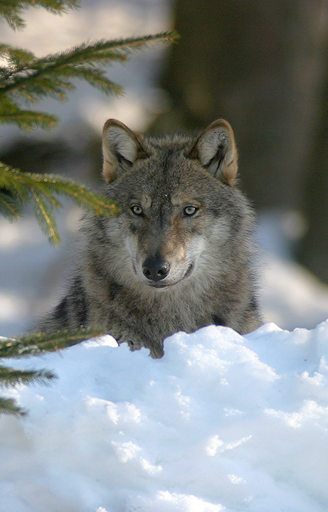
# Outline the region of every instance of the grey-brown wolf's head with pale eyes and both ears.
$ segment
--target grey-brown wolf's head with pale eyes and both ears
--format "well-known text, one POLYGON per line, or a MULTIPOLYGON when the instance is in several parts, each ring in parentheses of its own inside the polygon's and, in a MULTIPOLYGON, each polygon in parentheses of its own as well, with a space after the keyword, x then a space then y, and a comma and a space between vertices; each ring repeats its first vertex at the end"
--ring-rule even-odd
POLYGON ((243 219, 251 216, 233 186, 230 124, 220 119, 196 138, 155 138, 109 119, 102 144, 107 193, 121 210, 109 235, 121 254, 125 247, 132 280, 169 289, 199 270, 207 279, 222 273, 240 245, 243 219))

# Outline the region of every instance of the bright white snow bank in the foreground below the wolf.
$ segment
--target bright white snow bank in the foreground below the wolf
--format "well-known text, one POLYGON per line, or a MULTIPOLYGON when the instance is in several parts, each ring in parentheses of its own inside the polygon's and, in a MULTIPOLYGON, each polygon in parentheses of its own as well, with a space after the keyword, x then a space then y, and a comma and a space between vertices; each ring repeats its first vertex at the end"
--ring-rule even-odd
POLYGON ((30 415, 0 418, 0 510, 327 511, 327 361, 328 321, 15 361, 58 380, 11 392, 30 415))

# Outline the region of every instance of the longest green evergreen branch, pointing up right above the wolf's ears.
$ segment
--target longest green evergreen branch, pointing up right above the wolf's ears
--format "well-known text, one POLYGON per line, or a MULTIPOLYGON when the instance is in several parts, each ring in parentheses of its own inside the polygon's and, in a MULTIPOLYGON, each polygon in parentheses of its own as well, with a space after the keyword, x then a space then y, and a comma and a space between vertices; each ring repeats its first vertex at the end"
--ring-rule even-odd
POLYGON ((141 49, 159 41, 171 42, 175 38, 174 32, 163 32, 154 36, 95 41, 88 45, 83 43, 62 53, 46 55, 43 58, 36 58, 26 52, 23 55, 27 62, 24 63, 22 59, 20 65, 17 65, 16 61, 13 62, 13 52, 14 58, 17 59, 18 55, 15 49, 4 46, 2 53, 7 55, 11 66, 9 65, 9 69, 0 77, 0 93, 4 95, 15 91, 30 101, 47 95, 55 95, 65 100, 66 90, 73 88, 71 82, 66 80, 67 78, 88 80, 92 85, 97 85, 101 78, 106 84, 103 88, 104 92, 120 94, 122 88, 107 80, 105 72, 96 68, 95 63, 108 65, 112 60, 126 60, 132 49, 141 49))

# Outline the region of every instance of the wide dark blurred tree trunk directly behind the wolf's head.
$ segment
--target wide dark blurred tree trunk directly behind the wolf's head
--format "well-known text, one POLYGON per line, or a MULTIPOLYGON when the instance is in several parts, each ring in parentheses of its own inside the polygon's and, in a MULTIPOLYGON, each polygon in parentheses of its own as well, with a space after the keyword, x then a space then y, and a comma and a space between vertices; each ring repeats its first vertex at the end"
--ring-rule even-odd
POLYGON ((322 73, 321 0, 176 0, 157 130, 227 119, 258 208, 300 208, 322 73))

